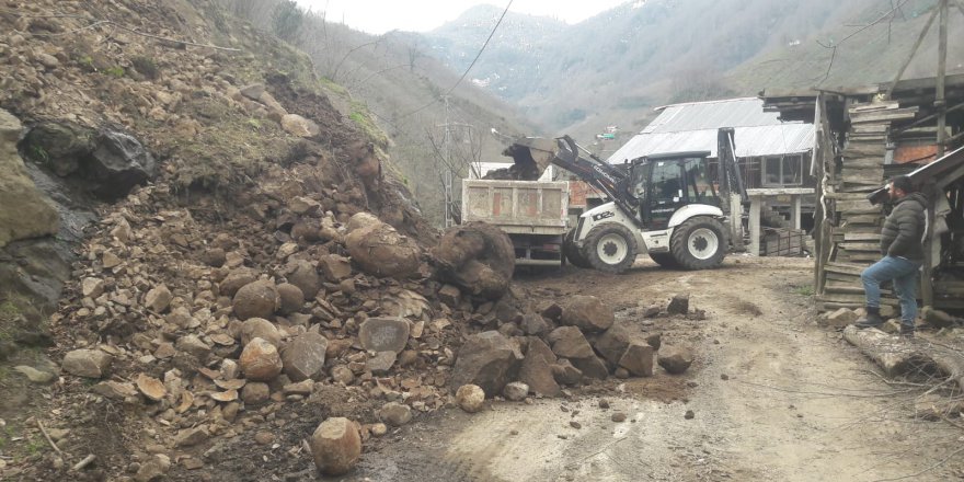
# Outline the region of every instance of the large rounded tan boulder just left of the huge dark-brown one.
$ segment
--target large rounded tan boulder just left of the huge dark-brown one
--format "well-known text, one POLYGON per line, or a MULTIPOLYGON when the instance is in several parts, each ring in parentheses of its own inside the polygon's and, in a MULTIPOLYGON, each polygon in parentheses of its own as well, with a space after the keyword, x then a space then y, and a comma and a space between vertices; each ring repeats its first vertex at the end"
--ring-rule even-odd
POLYGON ((418 271, 418 245, 381 221, 348 232, 345 246, 352 260, 370 275, 403 279, 418 271))

